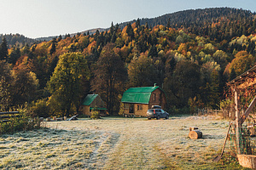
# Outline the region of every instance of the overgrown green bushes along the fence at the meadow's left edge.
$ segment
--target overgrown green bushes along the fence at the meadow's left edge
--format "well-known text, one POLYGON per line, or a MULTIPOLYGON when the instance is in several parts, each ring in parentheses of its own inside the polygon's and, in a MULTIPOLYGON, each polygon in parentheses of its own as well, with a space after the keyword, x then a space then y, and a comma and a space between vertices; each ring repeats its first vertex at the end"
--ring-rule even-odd
POLYGON ((19 108, 17 111, 19 111, 19 115, 9 118, 9 122, 0 122, 0 135, 38 129, 41 127, 39 118, 35 117, 33 112, 28 110, 27 107, 19 108))

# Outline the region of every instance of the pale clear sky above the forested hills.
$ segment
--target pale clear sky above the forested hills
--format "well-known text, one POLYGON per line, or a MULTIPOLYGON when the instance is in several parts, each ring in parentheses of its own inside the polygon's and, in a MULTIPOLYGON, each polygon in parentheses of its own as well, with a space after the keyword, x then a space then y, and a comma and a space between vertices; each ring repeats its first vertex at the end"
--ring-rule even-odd
POLYGON ((255 0, 0 0, 0 34, 50 37, 196 8, 256 12, 255 0))

